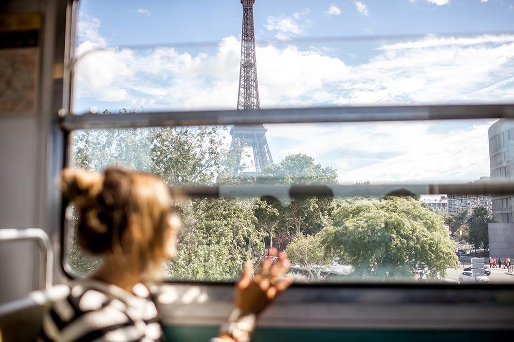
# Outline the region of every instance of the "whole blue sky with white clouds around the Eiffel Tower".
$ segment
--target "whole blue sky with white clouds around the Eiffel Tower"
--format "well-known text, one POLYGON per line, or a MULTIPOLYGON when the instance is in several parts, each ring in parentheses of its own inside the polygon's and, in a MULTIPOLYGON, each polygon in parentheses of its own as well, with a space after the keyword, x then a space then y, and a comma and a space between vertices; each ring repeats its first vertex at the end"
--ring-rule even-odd
MULTIPOLYGON (((74 110, 235 109, 241 14, 237 0, 82 0, 74 110)), ((514 0, 257 0, 254 20, 263 108, 514 102, 514 0)), ((490 124, 267 137, 274 161, 307 153, 342 183, 469 182, 489 174, 490 124)))

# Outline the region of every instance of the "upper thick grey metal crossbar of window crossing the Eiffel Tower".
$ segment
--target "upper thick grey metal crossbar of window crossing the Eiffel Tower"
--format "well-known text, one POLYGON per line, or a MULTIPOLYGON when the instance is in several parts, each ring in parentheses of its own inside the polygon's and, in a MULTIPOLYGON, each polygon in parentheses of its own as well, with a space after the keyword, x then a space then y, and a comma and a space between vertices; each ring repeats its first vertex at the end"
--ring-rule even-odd
POLYGON ((127 114, 65 114, 65 131, 156 126, 352 123, 514 118, 514 104, 309 107, 261 110, 163 111, 127 114))

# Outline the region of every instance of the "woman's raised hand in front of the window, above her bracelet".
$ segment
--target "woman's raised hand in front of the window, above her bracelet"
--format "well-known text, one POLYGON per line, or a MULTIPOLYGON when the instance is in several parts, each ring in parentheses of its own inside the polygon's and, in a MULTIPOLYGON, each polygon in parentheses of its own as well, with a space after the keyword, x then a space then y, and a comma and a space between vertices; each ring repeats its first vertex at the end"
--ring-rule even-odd
POLYGON ((287 289, 292 279, 285 276, 291 266, 286 253, 270 248, 261 262, 259 272, 253 277, 252 264, 247 264, 235 287, 235 306, 242 312, 259 314, 274 298, 287 289))

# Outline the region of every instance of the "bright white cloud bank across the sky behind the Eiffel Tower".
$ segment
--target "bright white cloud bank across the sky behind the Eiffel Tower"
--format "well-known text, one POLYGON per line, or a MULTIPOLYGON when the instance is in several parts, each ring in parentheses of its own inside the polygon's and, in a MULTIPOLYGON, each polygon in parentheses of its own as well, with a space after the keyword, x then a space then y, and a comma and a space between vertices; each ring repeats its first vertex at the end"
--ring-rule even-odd
MULTIPOLYGON (((100 21, 86 19, 79 26, 80 46, 105 47, 100 21)), ((204 53, 169 47, 89 53, 75 70, 74 100, 101 110, 130 105, 233 109, 240 49, 239 39, 230 36, 216 47, 206 47, 204 53)), ((258 45, 262 107, 513 100, 514 35, 427 35, 359 50, 354 58, 347 50, 339 57, 337 53, 337 49, 301 49, 292 43, 258 45)), ((270 146, 278 144, 272 146, 276 160, 288 153, 307 153, 318 163, 337 168, 341 182, 469 181, 488 174, 489 125, 457 127, 451 132, 441 130, 438 123, 303 125, 283 130, 271 126, 267 134, 270 146)))

